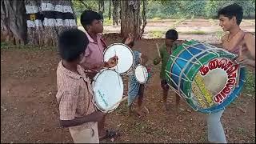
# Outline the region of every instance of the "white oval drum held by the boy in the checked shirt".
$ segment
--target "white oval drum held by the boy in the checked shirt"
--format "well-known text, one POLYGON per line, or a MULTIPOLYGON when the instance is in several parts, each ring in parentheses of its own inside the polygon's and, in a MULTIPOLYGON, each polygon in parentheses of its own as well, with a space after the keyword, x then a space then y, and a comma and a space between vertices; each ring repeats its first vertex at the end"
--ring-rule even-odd
POLYGON ((102 69, 92 82, 94 106, 102 112, 112 112, 122 100, 122 77, 114 70, 102 69))

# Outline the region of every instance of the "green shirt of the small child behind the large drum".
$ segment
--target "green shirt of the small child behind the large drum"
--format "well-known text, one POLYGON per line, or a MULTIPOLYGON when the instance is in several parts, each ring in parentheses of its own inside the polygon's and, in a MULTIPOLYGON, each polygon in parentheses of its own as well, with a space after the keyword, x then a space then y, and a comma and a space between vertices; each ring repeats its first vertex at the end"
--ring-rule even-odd
MULTIPOLYGON (((178 47, 177 43, 174 43, 174 46, 171 47, 171 53, 173 53, 174 50, 176 50, 178 47)), ((170 54, 168 53, 167 49, 166 49, 166 44, 163 44, 162 46, 160 46, 160 56, 161 56, 161 62, 162 62, 162 66, 161 66, 161 72, 160 72, 160 78, 161 79, 166 79, 166 65, 167 62, 170 58, 170 54)), ((154 58, 154 65, 157 65, 160 61, 158 61, 157 58, 154 58)))

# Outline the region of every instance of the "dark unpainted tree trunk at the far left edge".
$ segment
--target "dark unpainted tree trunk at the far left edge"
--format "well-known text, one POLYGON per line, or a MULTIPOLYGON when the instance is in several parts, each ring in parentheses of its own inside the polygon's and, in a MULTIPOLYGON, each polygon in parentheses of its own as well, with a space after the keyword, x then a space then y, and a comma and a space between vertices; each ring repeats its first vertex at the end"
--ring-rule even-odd
POLYGON ((26 44, 25 5, 21 0, 1 0, 1 42, 26 44))

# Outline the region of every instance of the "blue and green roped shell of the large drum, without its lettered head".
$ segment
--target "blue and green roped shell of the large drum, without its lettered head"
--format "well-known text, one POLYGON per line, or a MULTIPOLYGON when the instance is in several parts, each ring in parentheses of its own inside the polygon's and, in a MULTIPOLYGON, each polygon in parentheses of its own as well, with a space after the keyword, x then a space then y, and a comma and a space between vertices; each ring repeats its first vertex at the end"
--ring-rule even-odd
POLYGON ((202 109, 195 104, 194 95, 191 90, 191 84, 194 81, 195 75, 198 74, 198 70, 201 65, 196 65, 193 62, 201 62, 202 65, 206 65, 214 58, 234 59, 236 57, 237 55, 231 54, 226 50, 216 49, 216 47, 205 45, 202 42, 185 42, 184 45, 182 44, 182 46, 178 46, 178 48, 174 50, 173 55, 170 56, 169 61, 167 62, 167 82, 174 88, 174 90, 177 90, 178 94, 182 95, 182 97, 186 99, 186 102, 188 102, 194 110, 198 110, 202 113, 213 113, 218 110, 223 110, 230 104, 230 102, 234 101, 234 98, 236 98, 241 91, 243 82, 245 81, 245 68, 238 68, 240 71, 239 87, 236 87, 233 90, 232 94, 226 98, 225 102, 222 102, 222 104, 218 106, 215 105, 207 109, 202 109), (189 52, 185 50, 184 46, 186 46, 186 49, 189 50, 189 52), (214 51, 211 49, 214 49, 214 51), (202 50, 205 50, 205 52, 201 53, 202 50), (186 59, 186 61, 183 59, 186 59), (179 67, 181 69, 179 69, 179 67))

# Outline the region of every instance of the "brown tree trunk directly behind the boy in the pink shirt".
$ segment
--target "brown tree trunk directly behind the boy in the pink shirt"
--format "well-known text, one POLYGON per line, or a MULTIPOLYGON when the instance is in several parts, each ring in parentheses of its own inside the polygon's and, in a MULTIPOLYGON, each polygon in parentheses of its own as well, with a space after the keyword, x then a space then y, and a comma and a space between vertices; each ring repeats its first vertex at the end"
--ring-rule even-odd
POLYGON ((121 34, 127 38, 128 34, 134 35, 135 39, 140 36, 140 0, 121 1, 121 34))

